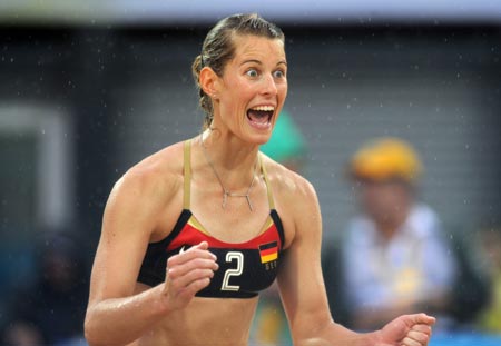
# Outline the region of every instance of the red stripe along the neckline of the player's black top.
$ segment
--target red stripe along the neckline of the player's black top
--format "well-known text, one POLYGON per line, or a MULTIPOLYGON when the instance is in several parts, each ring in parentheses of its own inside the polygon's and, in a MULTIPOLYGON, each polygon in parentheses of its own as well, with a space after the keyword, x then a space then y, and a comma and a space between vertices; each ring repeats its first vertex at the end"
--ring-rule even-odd
POLYGON ((212 248, 255 249, 262 244, 276 241, 277 239, 279 239, 279 235, 275 224, 272 224, 272 226, 269 226, 257 237, 244 243, 226 243, 198 230, 189 224, 186 224, 179 235, 168 245, 167 250, 173 250, 184 245, 194 246, 200 244, 202 241, 207 241, 208 246, 212 248))

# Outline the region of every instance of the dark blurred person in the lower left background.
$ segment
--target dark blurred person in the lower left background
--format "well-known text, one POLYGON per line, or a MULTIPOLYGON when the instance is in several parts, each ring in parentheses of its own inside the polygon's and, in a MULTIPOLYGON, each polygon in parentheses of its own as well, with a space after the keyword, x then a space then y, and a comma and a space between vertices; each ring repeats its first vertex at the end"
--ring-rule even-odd
POLYGON ((10 299, 4 345, 86 345, 87 270, 73 237, 43 234, 37 244, 35 285, 19 287, 10 299))

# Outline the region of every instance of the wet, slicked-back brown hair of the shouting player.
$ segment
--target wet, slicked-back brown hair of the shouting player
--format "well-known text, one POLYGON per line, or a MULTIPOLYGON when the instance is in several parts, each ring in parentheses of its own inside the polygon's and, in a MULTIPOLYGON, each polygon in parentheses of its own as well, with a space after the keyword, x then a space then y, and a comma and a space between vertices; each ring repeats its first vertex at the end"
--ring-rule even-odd
POLYGON ((199 105, 205 111, 204 129, 210 126, 214 115, 210 97, 200 88, 200 71, 204 67, 209 67, 217 76, 223 77, 226 63, 235 56, 234 34, 250 34, 285 42, 282 30, 256 13, 226 17, 210 29, 202 46, 202 53, 191 65, 193 77, 200 97, 199 105))

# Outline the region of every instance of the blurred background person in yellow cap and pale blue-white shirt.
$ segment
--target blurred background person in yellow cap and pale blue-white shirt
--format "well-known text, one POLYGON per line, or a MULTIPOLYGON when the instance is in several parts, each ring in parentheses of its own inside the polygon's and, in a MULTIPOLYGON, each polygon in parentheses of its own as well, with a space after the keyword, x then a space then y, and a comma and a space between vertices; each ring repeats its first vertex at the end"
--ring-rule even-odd
POLYGON ((356 151, 348 172, 362 210, 341 244, 352 326, 380 328, 419 310, 444 324, 458 267, 439 216, 418 200, 416 151, 402 139, 379 138, 356 151))

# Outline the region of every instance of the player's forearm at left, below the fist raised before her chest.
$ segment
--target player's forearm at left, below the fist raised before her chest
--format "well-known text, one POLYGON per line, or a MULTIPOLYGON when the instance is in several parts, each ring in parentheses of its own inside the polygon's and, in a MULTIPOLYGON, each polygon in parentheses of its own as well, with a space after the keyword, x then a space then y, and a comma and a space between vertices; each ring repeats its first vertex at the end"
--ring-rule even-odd
POLYGON ((89 345, 124 345, 139 338, 168 314, 163 285, 135 296, 106 299, 90 306, 85 322, 89 345))

